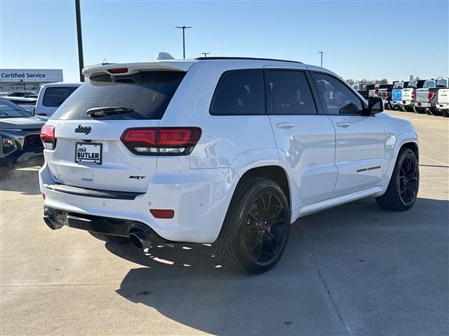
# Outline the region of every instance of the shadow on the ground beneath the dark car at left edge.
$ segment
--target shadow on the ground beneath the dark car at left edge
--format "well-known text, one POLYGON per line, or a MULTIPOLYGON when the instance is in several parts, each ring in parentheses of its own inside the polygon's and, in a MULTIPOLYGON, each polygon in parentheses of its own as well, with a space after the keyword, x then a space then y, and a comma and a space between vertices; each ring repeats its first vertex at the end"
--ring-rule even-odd
POLYGON ((0 165, 0 190, 17 191, 22 195, 40 194, 38 172, 42 165, 43 158, 0 165))

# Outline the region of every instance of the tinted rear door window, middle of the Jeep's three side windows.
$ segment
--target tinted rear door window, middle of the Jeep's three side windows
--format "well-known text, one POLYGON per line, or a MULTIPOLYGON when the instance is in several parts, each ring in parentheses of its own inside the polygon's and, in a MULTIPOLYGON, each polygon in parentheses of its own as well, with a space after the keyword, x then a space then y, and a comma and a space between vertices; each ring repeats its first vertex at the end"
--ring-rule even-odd
POLYGON ((302 71, 269 71, 268 90, 272 94, 272 114, 315 114, 316 106, 302 71))

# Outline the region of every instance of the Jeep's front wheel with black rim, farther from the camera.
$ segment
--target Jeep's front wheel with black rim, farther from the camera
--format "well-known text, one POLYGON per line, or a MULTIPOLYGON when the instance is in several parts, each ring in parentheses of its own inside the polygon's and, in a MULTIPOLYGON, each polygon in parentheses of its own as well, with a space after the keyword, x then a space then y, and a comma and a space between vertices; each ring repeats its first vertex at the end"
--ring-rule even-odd
POLYGON ((398 154, 387 191, 376 197, 376 202, 384 210, 406 211, 415 204, 419 188, 418 160, 410 148, 403 148, 398 154), (401 193, 402 190, 405 191, 401 193))

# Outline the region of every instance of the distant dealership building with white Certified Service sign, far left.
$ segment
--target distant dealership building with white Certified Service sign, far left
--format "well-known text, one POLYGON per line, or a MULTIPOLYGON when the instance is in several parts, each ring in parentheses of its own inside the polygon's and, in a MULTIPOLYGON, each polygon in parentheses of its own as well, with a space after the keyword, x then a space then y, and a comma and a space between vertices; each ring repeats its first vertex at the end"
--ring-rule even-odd
POLYGON ((0 94, 39 92, 43 84, 62 82, 62 69, 0 69, 0 94))

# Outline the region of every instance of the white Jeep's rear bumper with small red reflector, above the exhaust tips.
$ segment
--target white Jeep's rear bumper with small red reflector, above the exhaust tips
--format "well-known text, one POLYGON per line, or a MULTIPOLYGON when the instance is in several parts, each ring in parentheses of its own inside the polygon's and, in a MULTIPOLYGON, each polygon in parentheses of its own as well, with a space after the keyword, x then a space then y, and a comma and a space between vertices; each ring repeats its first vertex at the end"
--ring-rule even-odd
MULTIPOLYGON (((229 168, 192 169, 182 174, 156 173, 147 193, 124 199, 121 196, 87 195, 84 193, 87 189, 84 188, 54 188, 55 181, 51 178, 48 165, 43 165, 39 170, 41 193, 45 195, 43 206, 46 208, 64 214, 76 214, 78 217, 95 216, 138 222, 168 241, 204 244, 217 239, 237 181, 238 176, 229 168), (150 209, 173 209, 175 216, 155 218, 150 209)), ((97 193, 102 190, 93 191, 97 193)), ((107 234, 114 232, 114 235, 123 236, 129 233, 128 229, 117 231, 115 227, 107 232, 104 228, 103 231, 98 230, 93 231, 107 234)))

